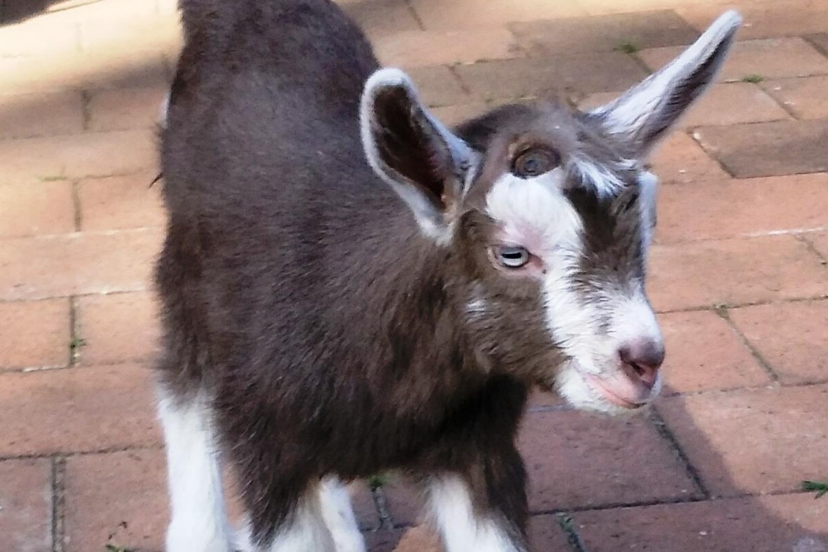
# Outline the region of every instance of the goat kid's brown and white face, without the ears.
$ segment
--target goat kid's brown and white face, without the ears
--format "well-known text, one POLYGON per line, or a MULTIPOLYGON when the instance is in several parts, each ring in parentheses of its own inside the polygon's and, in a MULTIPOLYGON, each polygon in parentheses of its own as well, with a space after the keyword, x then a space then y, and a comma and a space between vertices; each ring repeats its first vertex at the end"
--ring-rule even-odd
POLYGON ((485 356, 554 382, 576 406, 616 410, 661 385, 644 292, 656 180, 599 124, 542 105, 462 127, 480 158, 449 247, 464 261, 465 317, 485 356))

